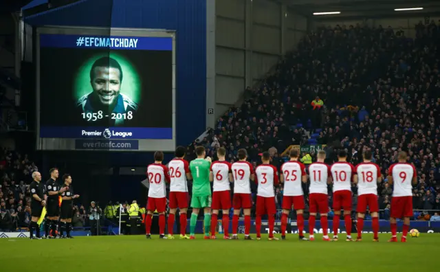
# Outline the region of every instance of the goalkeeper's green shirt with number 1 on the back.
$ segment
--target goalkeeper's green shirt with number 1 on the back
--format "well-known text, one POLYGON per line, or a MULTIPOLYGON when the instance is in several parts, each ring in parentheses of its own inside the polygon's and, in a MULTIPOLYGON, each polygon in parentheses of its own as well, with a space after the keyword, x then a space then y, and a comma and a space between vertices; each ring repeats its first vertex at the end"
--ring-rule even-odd
POLYGON ((192 174, 192 196, 210 196, 211 186, 209 172, 211 163, 206 159, 195 159, 190 162, 192 174))

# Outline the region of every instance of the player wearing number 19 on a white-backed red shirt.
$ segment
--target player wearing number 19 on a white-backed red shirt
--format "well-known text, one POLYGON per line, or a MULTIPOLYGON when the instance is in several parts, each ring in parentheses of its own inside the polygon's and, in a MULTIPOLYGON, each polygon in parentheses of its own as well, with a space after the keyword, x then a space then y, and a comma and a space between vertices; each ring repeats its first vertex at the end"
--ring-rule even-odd
POLYGON ((243 208, 245 214, 245 240, 250 238, 250 209, 252 208, 252 196, 250 192, 250 181, 253 181, 254 168, 248 163, 248 151, 241 148, 237 151, 239 161, 232 163, 232 177, 234 177, 234 196, 232 205, 234 206, 234 216, 232 217, 232 239, 238 239, 236 235, 239 228, 239 215, 243 208))

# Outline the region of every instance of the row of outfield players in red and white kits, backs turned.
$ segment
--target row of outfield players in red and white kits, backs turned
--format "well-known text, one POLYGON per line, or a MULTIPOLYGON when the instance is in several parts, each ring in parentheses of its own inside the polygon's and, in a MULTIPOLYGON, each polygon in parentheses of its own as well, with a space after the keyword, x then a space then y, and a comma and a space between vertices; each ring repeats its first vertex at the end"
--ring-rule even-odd
MULTIPOLYGON (((164 209, 165 183, 170 183, 170 220, 168 218, 168 238, 173 238, 174 214, 177 207, 181 211, 181 239, 186 239, 186 211, 188 209, 188 179, 191 173, 188 170, 188 162, 184 160, 184 147, 177 147, 176 158, 170 161, 173 165, 173 173, 168 172, 168 168, 162 165, 163 153, 155 153, 155 164, 159 166, 159 172, 155 172, 154 180, 150 183, 160 195, 148 195, 148 214, 152 214, 153 208, 157 209, 162 220, 159 220, 160 238, 164 238, 165 216, 164 209), (179 173, 179 174, 175 174, 179 173), (173 196, 173 197, 171 197, 173 196), (162 207, 163 206, 163 207, 162 207), (150 207, 150 208, 148 208, 150 207), (163 212, 162 212, 163 211, 163 212)), ((205 150, 202 146, 196 148, 197 156, 203 156, 205 150)), ((256 198, 256 239, 261 239, 261 216, 267 215, 269 225, 269 240, 278 240, 274 237, 274 216, 276 214, 274 185, 278 181, 284 183, 283 188, 283 212, 281 217, 281 238, 285 240, 288 214, 291 209, 296 210, 298 233, 300 240, 315 240, 314 227, 316 215, 320 213, 321 227, 323 230, 322 240, 338 240, 338 228, 340 216, 343 211, 345 228, 347 231, 347 241, 353 241, 351 237, 351 209, 352 192, 351 185, 358 185, 358 238, 362 240, 362 229, 364 216, 367 207, 372 216, 372 227, 374 233, 373 241, 378 242, 379 231, 378 212, 379 205, 377 199, 377 183, 381 182, 380 168, 373 163, 370 150, 364 152, 364 162, 354 167, 347 162, 347 153, 344 150, 338 152, 338 162, 328 166, 324 163, 326 154, 324 151, 318 152, 318 161, 311 163, 307 172, 303 163, 298 161, 299 151, 292 149, 289 152, 290 160, 283 163, 278 178, 277 169, 270 165, 270 154, 263 152, 261 156, 262 164, 255 169, 246 161, 248 155, 245 149, 237 152, 239 161, 228 163, 225 161, 225 149, 217 150, 218 161, 212 162, 210 166, 210 181, 213 182, 211 220, 211 236, 205 235, 205 239, 215 239, 215 229, 217 227, 217 214, 223 210, 222 226, 224 230, 223 239, 238 239, 237 229, 239 225, 239 214, 241 209, 245 216, 245 239, 252 240, 250 237, 250 209, 252 207, 252 196, 250 182, 254 181, 258 185, 256 198), (304 216, 305 200, 303 186, 301 183, 309 181, 309 239, 305 238, 304 216), (234 195, 230 199, 230 183, 234 183, 234 195), (327 212, 329 212, 327 184, 333 183, 333 238, 328 235, 327 212), (232 237, 229 236, 229 209, 234 208, 232 218, 232 237)), ((412 216, 412 184, 417 184, 417 172, 414 166, 407 163, 406 152, 399 152, 398 163, 393 164, 388 169, 388 183, 393 184, 393 199, 391 201, 391 233, 389 242, 397 242, 396 218, 404 218, 404 227, 401 242, 406 242, 406 234, 409 231, 410 216, 412 216)), ((151 173, 150 173, 151 174, 151 173)), ((208 181, 207 181, 208 182, 208 181)), ((148 237, 147 229, 147 237, 148 237)), ((192 239, 195 237, 192 235, 192 239)))

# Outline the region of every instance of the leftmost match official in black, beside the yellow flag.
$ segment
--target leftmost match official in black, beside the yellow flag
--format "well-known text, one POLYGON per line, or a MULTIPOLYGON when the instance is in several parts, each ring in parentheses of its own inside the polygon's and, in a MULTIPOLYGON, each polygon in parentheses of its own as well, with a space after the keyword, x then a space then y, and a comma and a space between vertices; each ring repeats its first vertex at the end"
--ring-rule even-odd
POLYGON ((39 172, 33 172, 32 179, 34 181, 32 181, 29 186, 30 194, 32 196, 32 200, 30 201, 30 214, 32 217, 29 223, 29 233, 31 239, 41 239, 40 227, 37 222, 40 219, 44 205, 46 205, 44 200, 44 185, 40 183, 41 174, 39 172), (34 236, 34 230, 36 231, 36 237, 34 236))

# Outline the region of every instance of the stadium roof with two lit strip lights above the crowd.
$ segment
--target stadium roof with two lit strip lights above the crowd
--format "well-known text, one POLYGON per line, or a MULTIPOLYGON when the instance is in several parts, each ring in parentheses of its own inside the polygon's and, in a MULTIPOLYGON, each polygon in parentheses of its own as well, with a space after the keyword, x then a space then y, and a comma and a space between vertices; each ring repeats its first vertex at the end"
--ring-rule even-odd
MULTIPOLYGON (((402 16, 402 14, 440 14, 439 0, 272 0, 285 3, 298 13, 312 15, 314 12, 341 12, 325 17, 377 17, 402 16), (423 8, 396 12, 396 8, 423 8)), ((323 16, 324 17, 324 16, 323 16)))

